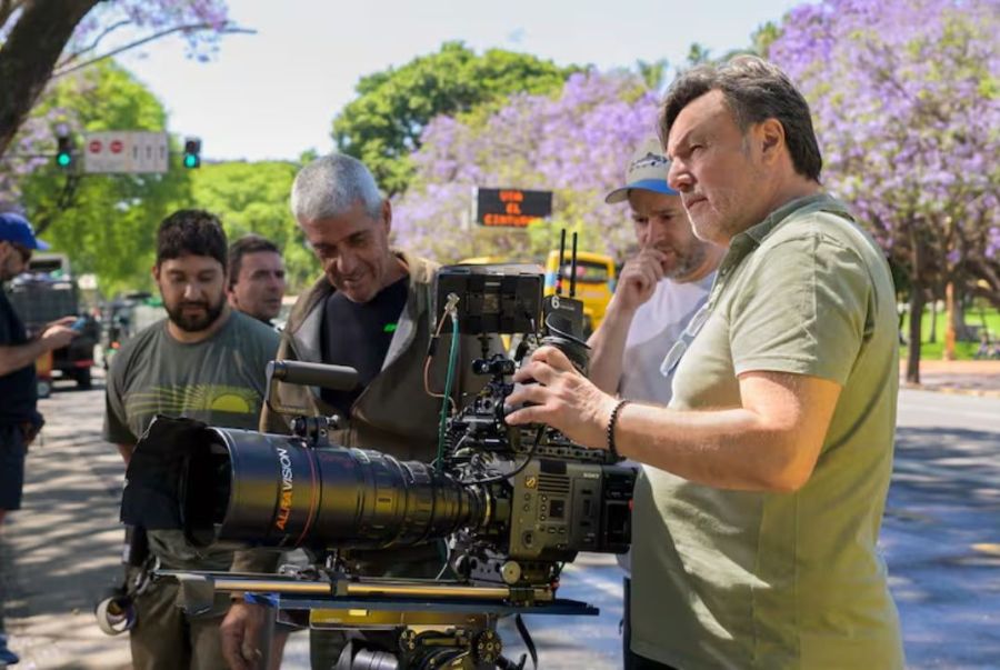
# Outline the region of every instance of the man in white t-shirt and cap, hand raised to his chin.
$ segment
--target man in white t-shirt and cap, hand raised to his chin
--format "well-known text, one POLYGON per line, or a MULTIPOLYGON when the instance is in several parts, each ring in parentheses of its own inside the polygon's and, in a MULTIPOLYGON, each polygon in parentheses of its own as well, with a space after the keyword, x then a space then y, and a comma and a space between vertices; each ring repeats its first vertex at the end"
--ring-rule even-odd
MULTIPOLYGON (((604 198, 608 203, 629 202, 639 253, 622 268, 608 313, 588 342, 590 379, 598 388, 658 404, 670 402, 670 352, 677 351, 674 343, 708 300, 724 252, 694 237, 680 194, 667 183, 669 170, 660 141, 649 139, 629 160, 624 186, 604 198)), ((619 563, 627 574, 622 653, 629 669, 629 554, 619 563)))

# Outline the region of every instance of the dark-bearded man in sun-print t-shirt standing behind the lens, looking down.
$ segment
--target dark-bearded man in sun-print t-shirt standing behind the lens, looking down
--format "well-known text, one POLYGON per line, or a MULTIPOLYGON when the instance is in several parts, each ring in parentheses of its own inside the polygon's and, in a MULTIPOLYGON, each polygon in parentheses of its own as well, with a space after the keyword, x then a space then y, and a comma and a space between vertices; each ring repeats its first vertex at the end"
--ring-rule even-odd
MULTIPOLYGON (((227 303, 226 253, 226 233, 208 212, 181 210, 160 224, 153 278, 168 318, 129 340, 108 376, 103 436, 118 444, 126 463, 157 414, 257 428, 279 336, 227 303)), ((234 560, 231 551, 196 550, 180 530, 151 530, 149 541, 168 569, 227 570, 234 560)), ((277 557, 240 552, 236 560, 242 570, 269 571, 277 557)), ((189 617, 173 604, 177 590, 176 583, 153 582, 136 599, 133 666, 226 668, 219 623, 228 602, 220 599, 208 614, 189 617)))

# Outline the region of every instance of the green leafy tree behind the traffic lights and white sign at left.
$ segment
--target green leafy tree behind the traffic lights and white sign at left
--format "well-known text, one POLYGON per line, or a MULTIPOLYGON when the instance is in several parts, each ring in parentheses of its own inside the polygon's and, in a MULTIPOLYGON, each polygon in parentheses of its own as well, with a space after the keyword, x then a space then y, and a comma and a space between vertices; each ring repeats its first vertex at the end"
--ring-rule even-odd
MULTIPOLYGON (((78 131, 163 131, 167 124, 156 96, 112 61, 60 80, 33 113, 78 131)), ((78 272, 96 273, 106 294, 148 288, 157 226, 190 196, 189 173, 179 163, 174 168, 167 174, 83 174, 68 181, 48 161, 23 179, 22 201, 53 248, 67 253, 78 272)))

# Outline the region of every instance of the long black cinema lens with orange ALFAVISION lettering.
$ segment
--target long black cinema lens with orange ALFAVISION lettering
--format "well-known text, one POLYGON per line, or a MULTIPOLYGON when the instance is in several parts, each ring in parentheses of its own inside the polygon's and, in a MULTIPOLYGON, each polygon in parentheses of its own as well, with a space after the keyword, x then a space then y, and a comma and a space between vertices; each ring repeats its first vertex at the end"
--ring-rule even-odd
POLYGON ((380 549, 489 522, 486 491, 421 462, 244 430, 200 434, 179 490, 197 547, 380 549))

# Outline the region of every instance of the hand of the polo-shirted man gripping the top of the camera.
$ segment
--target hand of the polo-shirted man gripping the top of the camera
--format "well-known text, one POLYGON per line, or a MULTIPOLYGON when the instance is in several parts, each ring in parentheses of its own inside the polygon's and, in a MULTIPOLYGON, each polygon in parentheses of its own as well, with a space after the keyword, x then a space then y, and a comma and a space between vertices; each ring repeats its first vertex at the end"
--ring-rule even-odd
POLYGON ((580 374, 564 353, 542 347, 513 379, 538 383, 520 386, 508 396, 507 403, 513 407, 533 403, 508 414, 508 423, 544 423, 583 447, 607 447, 606 431, 617 401, 580 374))

